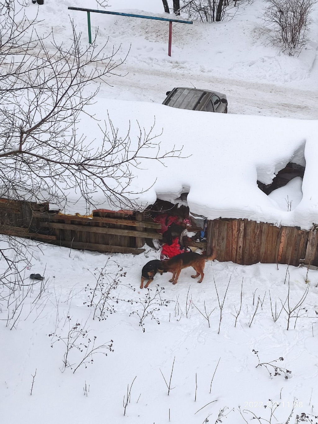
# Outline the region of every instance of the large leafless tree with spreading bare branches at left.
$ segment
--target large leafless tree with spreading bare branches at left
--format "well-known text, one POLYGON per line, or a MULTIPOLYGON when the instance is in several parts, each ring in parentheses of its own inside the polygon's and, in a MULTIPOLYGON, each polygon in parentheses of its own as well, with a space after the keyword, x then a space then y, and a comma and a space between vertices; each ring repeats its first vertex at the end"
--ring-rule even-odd
MULTIPOLYGON (((89 209, 97 206, 93 193, 98 190, 109 202, 131 208, 134 168, 141 160, 161 161, 179 152, 161 152, 153 126, 145 130, 138 124, 139 134, 131 138, 109 117, 99 124, 98 143, 77 134, 85 114, 94 120, 88 106, 100 84, 121 75, 125 57, 107 42, 98 45, 97 33, 91 45, 83 42, 72 21, 71 40, 58 42, 53 32, 39 35, 38 18, 29 20, 27 3, 18 1, 19 10, 15 0, 0 0, 0 198, 63 208, 65 193, 76 190, 89 209)), ((0 249, 8 278, 19 260, 25 263, 19 248, 9 248, 15 254, 0 249)))

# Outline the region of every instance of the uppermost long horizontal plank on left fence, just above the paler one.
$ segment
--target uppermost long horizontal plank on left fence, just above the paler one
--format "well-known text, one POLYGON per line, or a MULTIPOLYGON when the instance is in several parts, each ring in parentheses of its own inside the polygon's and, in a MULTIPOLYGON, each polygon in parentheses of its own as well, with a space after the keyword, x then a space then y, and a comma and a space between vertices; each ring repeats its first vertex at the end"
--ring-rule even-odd
POLYGON ((161 224, 156 222, 146 222, 146 221, 133 221, 129 219, 119 219, 119 218, 101 218, 98 216, 94 216, 91 218, 85 218, 77 215, 59 215, 57 213, 41 213, 41 212, 33 212, 33 216, 35 218, 47 218, 47 219, 60 219, 67 221, 78 221, 78 222, 102 222, 109 224, 118 224, 118 225, 126 225, 132 227, 141 227, 141 228, 152 228, 152 229, 160 229, 161 224))

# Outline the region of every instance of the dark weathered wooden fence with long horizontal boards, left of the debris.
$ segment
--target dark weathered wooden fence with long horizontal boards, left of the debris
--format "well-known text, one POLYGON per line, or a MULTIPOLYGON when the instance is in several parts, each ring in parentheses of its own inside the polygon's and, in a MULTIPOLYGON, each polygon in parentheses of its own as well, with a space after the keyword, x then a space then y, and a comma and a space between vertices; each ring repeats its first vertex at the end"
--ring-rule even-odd
POLYGON ((48 204, 0 199, 0 233, 51 244, 102 252, 139 254, 145 238, 161 239, 158 223, 146 222, 141 212, 96 210, 93 218, 61 215, 48 204))

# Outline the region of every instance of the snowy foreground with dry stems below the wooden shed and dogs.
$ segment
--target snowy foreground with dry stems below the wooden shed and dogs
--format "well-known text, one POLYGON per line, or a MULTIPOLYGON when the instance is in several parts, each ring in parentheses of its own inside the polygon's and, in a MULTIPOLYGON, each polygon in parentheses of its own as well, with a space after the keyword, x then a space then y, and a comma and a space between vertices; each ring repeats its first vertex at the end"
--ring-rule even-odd
POLYGON ((266 406, 273 403, 279 407, 274 413, 277 421, 271 422, 285 424, 293 402, 290 422, 301 412, 317 414, 317 271, 307 275, 307 268, 287 265, 277 269, 270 264, 207 262, 201 284, 190 278, 190 268, 182 271, 177 285, 168 282, 171 274, 156 275, 149 302, 148 291, 139 289, 140 274, 144 263, 155 257, 151 252, 108 256, 49 245, 41 245, 41 251, 36 248, 26 273, 44 273, 44 283, 32 288, 15 314, 12 295, 9 315, 5 304, 0 315, 3 423, 214 424, 225 407, 228 415, 222 422, 243 424, 244 419, 254 422, 253 413, 269 420, 271 410, 266 406), (105 264, 104 285, 94 291, 105 264), (116 274, 118 286, 110 290, 102 320, 98 308, 93 319, 94 305, 105 299, 102 293, 116 274), (287 331, 288 313, 282 303, 288 310, 289 302, 293 310, 308 288, 304 302, 290 314, 287 331), (224 302, 221 324, 216 289, 224 302), (141 315, 144 306, 149 314, 143 332, 136 312, 141 315), (272 314, 279 315, 276 322, 272 314), (84 346, 83 351, 72 346, 67 359, 71 366, 64 370, 65 342, 75 324, 88 335, 75 341, 73 333, 69 347, 84 343, 91 350, 96 336, 95 347, 113 340, 113 351, 105 350, 106 357, 102 348, 97 349, 93 363, 73 374, 86 354, 84 346), (288 379, 279 370, 281 375, 274 376, 270 365, 271 376, 264 365, 256 368, 253 349, 260 363, 282 357, 272 364, 291 371, 288 379), (160 371, 168 385, 171 377, 169 396, 160 371), (135 377, 124 416, 123 398, 135 377))

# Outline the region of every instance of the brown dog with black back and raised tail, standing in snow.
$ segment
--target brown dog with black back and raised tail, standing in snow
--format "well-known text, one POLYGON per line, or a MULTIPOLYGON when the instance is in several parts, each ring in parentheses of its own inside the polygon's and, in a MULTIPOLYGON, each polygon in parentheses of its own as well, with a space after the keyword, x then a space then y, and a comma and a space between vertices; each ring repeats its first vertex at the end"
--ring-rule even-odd
POLYGON ((216 251, 213 249, 212 253, 207 255, 199 255, 198 253, 189 252, 176 255, 167 261, 162 261, 164 272, 172 272, 172 278, 169 280, 172 284, 177 284, 180 272, 183 268, 191 266, 196 271, 196 275, 191 275, 196 278, 201 275, 198 283, 201 283, 204 277, 204 267, 206 260, 213 260, 216 258, 216 251))

